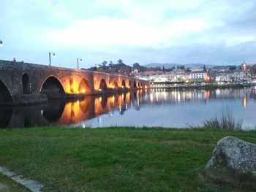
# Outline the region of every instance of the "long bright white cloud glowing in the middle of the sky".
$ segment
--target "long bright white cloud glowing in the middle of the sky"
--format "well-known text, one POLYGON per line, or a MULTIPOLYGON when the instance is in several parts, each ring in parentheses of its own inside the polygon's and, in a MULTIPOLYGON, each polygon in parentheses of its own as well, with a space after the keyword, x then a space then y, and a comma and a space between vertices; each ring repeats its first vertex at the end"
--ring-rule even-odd
POLYGON ((165 47, 186 33, 206 30, 210 25, 203 19, 183 19, 153 27, 129 19, 96 18, 80 20, 72 26, 48 31, 51 42, 64 46, 99 48, 102 45, 165 47))

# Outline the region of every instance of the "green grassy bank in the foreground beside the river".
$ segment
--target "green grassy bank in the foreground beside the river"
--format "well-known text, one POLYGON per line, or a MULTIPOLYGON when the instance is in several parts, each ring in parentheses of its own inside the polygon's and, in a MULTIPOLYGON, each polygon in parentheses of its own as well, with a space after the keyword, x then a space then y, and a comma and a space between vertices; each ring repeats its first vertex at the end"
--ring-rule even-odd
POLYGON ((45 191, 227 191, 198 176, 219 139, 256 131, 162 128, 0 130, 0 166, 45 191))

